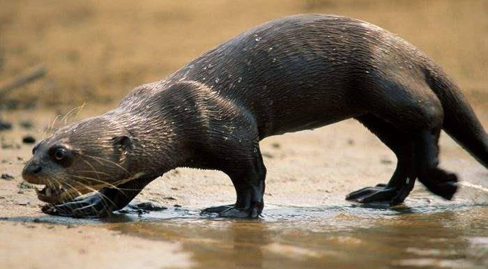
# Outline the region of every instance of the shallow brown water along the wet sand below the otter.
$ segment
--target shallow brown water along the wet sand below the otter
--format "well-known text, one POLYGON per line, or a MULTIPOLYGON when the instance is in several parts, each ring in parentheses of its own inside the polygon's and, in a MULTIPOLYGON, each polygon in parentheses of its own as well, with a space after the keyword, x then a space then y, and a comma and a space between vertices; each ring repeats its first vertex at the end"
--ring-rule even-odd
POLYGON ((394 208, 268 205, 259 220, 169 208, 109 228, 179 242, 195 268, 487 268, 487 203, 427 197, 394 208))

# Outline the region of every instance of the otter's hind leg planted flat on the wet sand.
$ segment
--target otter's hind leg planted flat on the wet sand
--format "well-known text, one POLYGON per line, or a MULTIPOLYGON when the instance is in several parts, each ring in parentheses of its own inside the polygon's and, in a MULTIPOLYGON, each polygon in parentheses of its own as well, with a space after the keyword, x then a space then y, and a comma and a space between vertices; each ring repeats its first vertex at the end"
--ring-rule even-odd
POLYGON ((346 196, 349 201, 360 203, 402 203, 413 189, 415 165, 413 161, 413 139, 381 118, 367 114, 357 118, 397 156, 397 168, 388 184, 365 187, 346 196))

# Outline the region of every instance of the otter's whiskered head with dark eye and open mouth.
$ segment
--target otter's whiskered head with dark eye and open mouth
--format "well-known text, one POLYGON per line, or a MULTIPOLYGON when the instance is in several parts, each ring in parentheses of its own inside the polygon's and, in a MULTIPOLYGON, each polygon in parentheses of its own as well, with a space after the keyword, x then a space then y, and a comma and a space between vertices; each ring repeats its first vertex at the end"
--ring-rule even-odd
POLYGON ((22 177, 45 185, 38 198, 64 203, 102 187, 115 187, 131 178, 130 133, 108 117, 88 118, 57 130, 33 148, 22 177))

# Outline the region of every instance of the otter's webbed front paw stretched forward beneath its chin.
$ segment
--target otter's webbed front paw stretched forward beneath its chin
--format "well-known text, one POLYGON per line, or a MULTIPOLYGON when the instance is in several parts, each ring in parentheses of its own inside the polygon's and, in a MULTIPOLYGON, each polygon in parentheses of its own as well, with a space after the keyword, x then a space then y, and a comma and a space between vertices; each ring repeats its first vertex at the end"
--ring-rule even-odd
POLYGON ((89 197, 78 198, 59 205, 47 204, 41 208, 43 213, 59 215, 63 217, 106 217, 114 210, 110 201, 102 199, 101 194, 93 194, 89 197))

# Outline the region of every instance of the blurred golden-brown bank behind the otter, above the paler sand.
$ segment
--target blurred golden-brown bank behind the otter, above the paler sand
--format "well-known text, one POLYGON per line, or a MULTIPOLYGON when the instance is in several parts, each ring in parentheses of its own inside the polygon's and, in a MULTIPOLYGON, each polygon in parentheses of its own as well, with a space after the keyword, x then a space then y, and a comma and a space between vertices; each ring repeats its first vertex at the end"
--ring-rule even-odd
POLYGON ((0 0, 0 7, 3 109, 115 102, 251 26, 297 13, 346 15, 397 33, 440 63, 473 105, 488 100, 488 1, 0 0))

